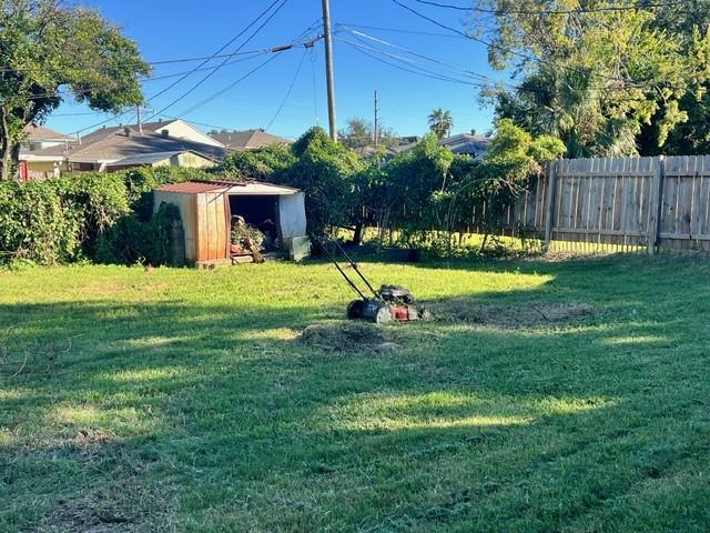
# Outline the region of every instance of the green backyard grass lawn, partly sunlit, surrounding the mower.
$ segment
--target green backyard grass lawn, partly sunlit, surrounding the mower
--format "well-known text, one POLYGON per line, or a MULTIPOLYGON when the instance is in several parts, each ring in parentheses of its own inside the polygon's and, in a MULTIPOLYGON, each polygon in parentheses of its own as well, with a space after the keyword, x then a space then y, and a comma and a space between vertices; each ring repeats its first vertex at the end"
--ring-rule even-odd
POLYGON ((710 262, 363 266, 0 271, 0 531, 709 531, 710 262))

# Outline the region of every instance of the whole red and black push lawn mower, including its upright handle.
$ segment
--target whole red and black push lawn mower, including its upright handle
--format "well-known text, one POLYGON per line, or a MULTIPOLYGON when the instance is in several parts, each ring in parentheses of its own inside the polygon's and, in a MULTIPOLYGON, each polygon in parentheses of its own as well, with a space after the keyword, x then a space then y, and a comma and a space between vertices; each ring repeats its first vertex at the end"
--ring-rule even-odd
POLYGON ((363 319, 369 320, 376 324, 384 324, 392 320, 399 322, 408 322, 412 320, 422 320, 430 318, 430 313, 426 308, 415 304, 414 294, 408 289, 399 285, 382 285, 376 291, 373 285, 367 281, 365 274, 359 270, 359 266, 347 254, 345 249, 339 242, 329 240, 332 249, 337 249, 345 260, 349 263, 349 266, 357 273, 359 279, 365 283, 366 291, 372 293, 372 296, 367 296, 364 290, 362 290, 352 279, 347 275, 343 266, 338 263, 332 250, 328 249, 325 239, 321 240, 323 250, 328 255, 337 271, 343 275, 347 284, 359 296, 357 300, 353 300, 347 304, 347 318, 351 320, 363 319))

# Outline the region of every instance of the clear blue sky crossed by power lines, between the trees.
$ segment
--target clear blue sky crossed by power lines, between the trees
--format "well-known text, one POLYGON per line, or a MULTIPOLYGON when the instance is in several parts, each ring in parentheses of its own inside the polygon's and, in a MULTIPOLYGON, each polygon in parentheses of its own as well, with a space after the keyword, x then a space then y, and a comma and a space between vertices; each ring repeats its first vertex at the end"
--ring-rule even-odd
MULTIPOLYGON (((413 0, 404 1, 443 22, 463 28, 463 17, 465 16, 463 12, 427 8, 413 0)), ((460 69, 479 72, 495 79, 505 79, 505 73, 494 72, 488 67, 486 48, 483 44, 453 34, 447 37, 446 30, 418 19, 390 0, 331 0, 331 2, 334 24, 357 24, 358 28, 353 26, 349 28, 460 69), (359 28, 361 26, 399 31, 365 29, 359 28)), ((148 61, 163 61, 214 53, 257 17, 271 1, 85 0, 82 3, 100 10, 109 20, 121 26, 128 37, 138 41, 143 57, 148 61)), ((462 1, 460 3, 465 4, 466 2, 462 1)), ((261 50, 291 42, 308 27, 312 27, 320 16, 321 0, 288 0, 243 50, 261 50)), ((308 34, 317 32, 320 32, 320 28, 308 34)), ((427 69, 433 67, 432 63, 425 63, 420 58, 407 56, 400 49, 374 41, 368 37, 354 37, 343 32, 338 37, 358 43, 361 47, 377 48, 394 56, 407 57, 410 61, 415 61, 412 63, 414 68, 424 64, 427 69)), ((226 52, 233 52, 242 41, 243 39, 235 41, 226 49, 226 52)), ((316 44, 313 52, 306 52, 303 48, 281 52, 273 61, 243 82, 182 118, 200 123, 199 125, 205 130, 209 130, 211 125, 237 130, 265 128, 273 120, 270 131, 290 138, 300 135, 316 122, 327 127, 323 52, 322 42, 316 44), (300 63, 300 73, 295 77, 300 63), (294 79, 291 94, 274 120, 294 79)), ((369 51, 369 53, 375 53, 376 57, 384 60, 397 61, 392 57, 376 52, 369 51)), ((467 132, 471 129, 484 132, 490 128, 493 111, 480 107, 477 87, 415 76, 384 64, 342 40, 335 40, 334 54, 338 125, 341 127, 351 117, 365 117, 372 120, 373 91, 376 89, 379 94, 381 118, 384 125, 394 129, 399 134, 425 132, 427 129, 426 117, 436 107, 452 111, 455 132, 467 132)), ((252 57, 223 67, 197 90, 164 113, 181 117, 195 103, 223 90, 260 66, 268 57, 271 56, 252 57)), ((217 62, 219 60, 210 64, 216 66, 217 62)), ((185 72, 197 64, 156 66, 153 76, 185 72)), ((144 117, 150 117, 150 110, 155 112, 168 105, 209 72, 196 72, 165 94, 151 100, 149 110, 143 111, 144 117)), ((469 74, 452 69, 446 76, 470 80, 469 74)), ((150 98, 173 81, 175 78, 145 81, 143 84, 145 95, 150 98)), ((101 113, 89 114, 89 111, 83 105, 62 104, 49 119, 48 125, 63 132, 74 132, 111 118, 101 113)), ((134 121, 135 113, 132 113, 108 123, 134 121)))

